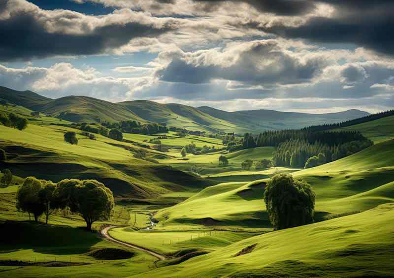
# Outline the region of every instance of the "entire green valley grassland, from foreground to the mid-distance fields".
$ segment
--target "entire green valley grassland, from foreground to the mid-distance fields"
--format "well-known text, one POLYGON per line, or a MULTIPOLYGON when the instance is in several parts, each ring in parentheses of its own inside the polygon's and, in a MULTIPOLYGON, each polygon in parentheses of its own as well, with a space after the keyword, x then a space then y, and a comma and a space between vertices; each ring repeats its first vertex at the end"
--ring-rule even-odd
POLYGON ((65 126, 70 124, 65 120, 43 114, 32 118, 31 110, 20 106, 0 108, 29 119, 23 131, 0 125, 0 147, 8 155, 1 167, 14 174, 12 185, 0 188, 0 277, 394 273, 391 117, 346 127, 375 142, 359 153, 310 169, 244 170, 243 161, 271 159, 275 148, 229 152, 221 139, 178 137, 175 132, 124 133, 123 142, 95 134, 96 140, 91 140, 81 130, 65 126), (64 142, 67 131, 76 132, 78 145, 64 142), (154 150, 155 144, 149 142, 163 136, 166 139, 160 140, 169 146, 168 152, 154 150), (218 151, 182 157, 180 149, 191 143, 218 151), (140 151, 157 161, 134 157, 140 151), (221 155, 228 158, 228 165, 218 165, 221 155), (263 192, 278 173, 291 173, 313 186, 316 223, 273 231, 263 192), (95 222, 93 232, 83 228, 81 216, 69 212, 56 212, 48 225, 42 223, 43 217, 34 223, 15 208, 18 186, 28 176, 103 182, 115 195, 111 219, 95 222), (166 259, 157 261, 146 252, 106 241, 99 235, 104 225, 116 226, 109 230, 114 239, 154 250, 166 259), (7 265, 7 260, 13 264, 7 265))

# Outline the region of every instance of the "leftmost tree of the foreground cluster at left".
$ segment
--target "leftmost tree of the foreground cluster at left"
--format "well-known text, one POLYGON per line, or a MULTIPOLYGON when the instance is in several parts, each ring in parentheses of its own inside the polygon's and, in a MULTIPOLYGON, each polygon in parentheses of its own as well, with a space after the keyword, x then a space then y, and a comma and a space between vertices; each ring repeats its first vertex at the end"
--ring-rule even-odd
POLYGON ((29 213, 29 215, 33 214, 36 222, 45 211, 45 207, 39 198, 41 186, 42 181, 29 177, 25 179, 16 192, 16 208, 29 213))

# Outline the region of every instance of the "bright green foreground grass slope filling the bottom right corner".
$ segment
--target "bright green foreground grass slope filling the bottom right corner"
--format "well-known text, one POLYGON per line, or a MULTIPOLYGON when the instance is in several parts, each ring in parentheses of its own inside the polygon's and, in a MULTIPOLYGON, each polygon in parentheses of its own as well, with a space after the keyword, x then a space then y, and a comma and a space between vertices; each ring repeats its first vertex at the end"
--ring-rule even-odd
POLYGON ((394 204, 266 233, 146 277, 392 277, 394 204), (253 248, 254 247, 254 248, 253 248), (241 250, 251 252, 238 255, 241 250))

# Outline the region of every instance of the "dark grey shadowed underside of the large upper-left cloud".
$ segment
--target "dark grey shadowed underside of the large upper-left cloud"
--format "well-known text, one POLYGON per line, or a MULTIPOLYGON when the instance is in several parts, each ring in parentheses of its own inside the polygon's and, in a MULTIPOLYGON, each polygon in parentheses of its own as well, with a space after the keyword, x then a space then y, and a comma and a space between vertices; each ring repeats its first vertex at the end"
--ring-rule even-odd
POLYGON ((0 61, 101 54, 126 45, 133 38, 157 36, 176 26, 172 20, 159 25, 131 22, 130 18, 125 17, 124 21, 88 28, 89 19, 83 19, 81 14, 65 12, 55 21, 58 30, 48 31, 45 26, 48 22, 40 18, 47 11, 38 12, 39 16, 35 10, 18 11, 8 18, 0 19, 0 61), (80 23, 82 20, 87 22, 80 23), (70 33, 66 29, 76 29, 78 32, 70 33))

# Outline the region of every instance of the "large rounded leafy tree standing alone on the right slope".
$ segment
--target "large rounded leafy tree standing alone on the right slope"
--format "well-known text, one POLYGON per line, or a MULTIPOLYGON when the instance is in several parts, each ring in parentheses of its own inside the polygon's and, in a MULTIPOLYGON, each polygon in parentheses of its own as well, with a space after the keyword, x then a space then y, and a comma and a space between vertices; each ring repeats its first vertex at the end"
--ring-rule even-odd
POLYGON ((277 174, 268 181, 264 202, 274 230, 314 222, 315 192, 290 174, 277 174))

